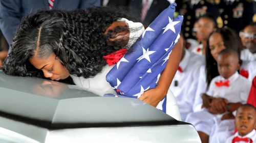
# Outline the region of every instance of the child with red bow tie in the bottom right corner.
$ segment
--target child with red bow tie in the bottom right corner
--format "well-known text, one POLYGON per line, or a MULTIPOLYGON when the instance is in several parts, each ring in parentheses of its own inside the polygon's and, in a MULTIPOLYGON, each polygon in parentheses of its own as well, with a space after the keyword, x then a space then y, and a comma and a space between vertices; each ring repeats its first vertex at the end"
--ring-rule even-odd
POLYGON ((237 110, 234 124, 238 132, 230 136, 226 143, 256 142, 256 108, 251 104, 244 104, 237 110))

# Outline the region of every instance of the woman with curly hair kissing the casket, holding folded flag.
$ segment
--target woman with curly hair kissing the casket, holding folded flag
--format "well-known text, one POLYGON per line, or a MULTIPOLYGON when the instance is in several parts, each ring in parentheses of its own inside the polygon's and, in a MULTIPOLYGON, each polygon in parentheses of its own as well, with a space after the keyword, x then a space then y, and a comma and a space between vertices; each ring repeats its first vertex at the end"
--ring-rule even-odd
MULTIPOLYGON (((131 28, 128 20, 119 20, 130 16, 116 11, 110 8, 52 10, 28 16, 19 26, 4 72, 52 80, 65 80, 72 75, 75 83, 97 79, 89 88, 102 83, 98 90, 115 93, 105 81, 105 73, 112 67, 106 66, 103 56, 129 48, 138 38, 136 35, 143 32, 142 24, 131 28)), ((170 54, 172 64, 166 65, 157 87, 144 92, 140 100, 156 107, 166 95, 178 69, 181 48, 180 40, 170 54)))

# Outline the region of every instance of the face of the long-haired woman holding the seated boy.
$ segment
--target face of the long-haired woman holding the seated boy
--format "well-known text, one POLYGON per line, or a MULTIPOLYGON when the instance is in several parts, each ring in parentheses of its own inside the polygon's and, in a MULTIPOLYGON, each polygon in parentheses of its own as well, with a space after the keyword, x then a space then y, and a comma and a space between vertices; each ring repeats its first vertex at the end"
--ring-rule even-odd
POLYGON ((214 33, 209 37, 209 48, 212 57, 217 61, 218 53, 226 48, 220 33, 214 33))

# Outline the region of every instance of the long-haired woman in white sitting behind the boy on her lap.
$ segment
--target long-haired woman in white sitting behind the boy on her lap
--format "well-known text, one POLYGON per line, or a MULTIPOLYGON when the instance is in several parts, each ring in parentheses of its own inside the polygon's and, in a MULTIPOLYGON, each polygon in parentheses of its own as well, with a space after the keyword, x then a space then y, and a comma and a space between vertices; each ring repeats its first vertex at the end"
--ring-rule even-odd
POLYGON ((201 94, 207 91, 211 79, 219 75, 216 62, 217 55, 225 48, 237 50, 239 54, 242 48, 239 37, 228 27, 221 28, 209 35, 205 49, 205 65, 200 68, 200 79, 197 87, 194 111, 201 110, 201 94))

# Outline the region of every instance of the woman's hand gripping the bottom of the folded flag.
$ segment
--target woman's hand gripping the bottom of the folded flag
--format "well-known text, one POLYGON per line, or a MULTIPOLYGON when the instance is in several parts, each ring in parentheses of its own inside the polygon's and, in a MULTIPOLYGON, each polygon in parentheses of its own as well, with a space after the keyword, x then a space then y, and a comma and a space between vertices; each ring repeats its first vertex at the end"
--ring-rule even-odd
POLYGON ((165 95, 166 94, 155 88, 145 91, 138 99, 156 107, 165 95))

